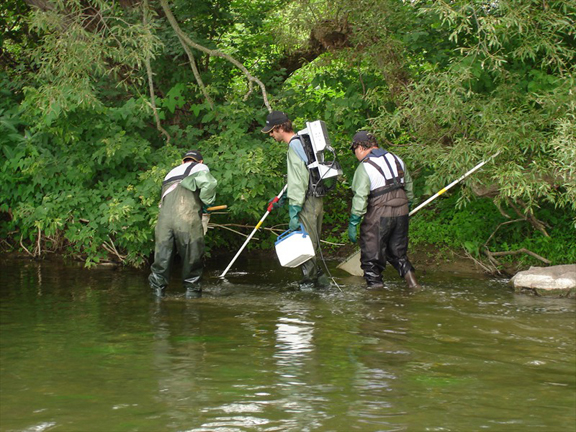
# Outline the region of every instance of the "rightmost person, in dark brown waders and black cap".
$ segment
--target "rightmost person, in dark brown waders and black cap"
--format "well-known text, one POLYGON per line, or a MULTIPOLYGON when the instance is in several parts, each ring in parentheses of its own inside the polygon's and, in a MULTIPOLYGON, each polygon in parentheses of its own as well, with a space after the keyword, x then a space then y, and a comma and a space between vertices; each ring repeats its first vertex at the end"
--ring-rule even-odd
POLYGON ((410 288, 418 283, 408 251, 409 204, 414 199, 412 179, 402 159, 378 147, 374 135, 360 131, 350 146, 360 161, 352 180, 350 241, 356 243, 360 225, 360 266, 368 289, 382 287, 386 261, 410 288))

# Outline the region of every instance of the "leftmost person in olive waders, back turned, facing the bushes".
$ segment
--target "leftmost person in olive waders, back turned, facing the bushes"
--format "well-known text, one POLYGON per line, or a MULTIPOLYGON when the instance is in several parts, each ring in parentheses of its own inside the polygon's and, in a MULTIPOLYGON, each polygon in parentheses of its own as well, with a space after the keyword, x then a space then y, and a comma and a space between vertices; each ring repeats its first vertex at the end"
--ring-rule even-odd
POLYGON ((182 282, 186 296, 200 297, 202 293, 202 209, 214 203, 217 184, 203 162, 200 152, 191 150, 183 156, 182 164, 173 168, 162 182, 154 263, 148 277, 150 287, 157 296, 162 296, 168 285, 176 252, 182 259, 182 282))

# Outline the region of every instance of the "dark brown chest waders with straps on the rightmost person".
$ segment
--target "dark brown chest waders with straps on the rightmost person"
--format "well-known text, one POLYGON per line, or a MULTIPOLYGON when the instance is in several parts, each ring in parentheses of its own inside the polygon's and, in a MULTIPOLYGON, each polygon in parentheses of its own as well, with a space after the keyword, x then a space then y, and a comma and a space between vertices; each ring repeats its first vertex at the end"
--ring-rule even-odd
POLYGON ((363 163, 373 166, 384 178, 385 185, 374 189, 368 197, 368 210, 360 225, 360 266, 369 288, 382 286, 382 272, 389 262, 405 277, 413 270, 408 260, 408 198, 404 191, 404 170, 392 153, 398 175, 394 175, 387 158, 390 176, 367 158, 363 163))

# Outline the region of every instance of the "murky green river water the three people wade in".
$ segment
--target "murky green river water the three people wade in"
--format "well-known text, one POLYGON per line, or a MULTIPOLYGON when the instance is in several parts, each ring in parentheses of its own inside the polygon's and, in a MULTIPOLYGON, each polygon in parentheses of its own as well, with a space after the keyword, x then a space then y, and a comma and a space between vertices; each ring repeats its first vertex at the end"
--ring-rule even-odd
POLYGON ((576 430, 574 300, 435 269, 367 291, 335 263, 300 292, 221 261, 158 301, 145 271, 4 259, 0 430, 576 430))

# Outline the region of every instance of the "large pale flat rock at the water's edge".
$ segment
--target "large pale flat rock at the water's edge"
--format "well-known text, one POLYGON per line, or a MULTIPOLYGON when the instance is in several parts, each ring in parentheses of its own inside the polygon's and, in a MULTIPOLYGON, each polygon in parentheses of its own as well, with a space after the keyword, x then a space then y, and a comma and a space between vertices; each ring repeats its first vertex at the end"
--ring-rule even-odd
POLYGON ((514 275, 510 284, 516 292, 576 298, 576 264, 530 267, 514 275))

